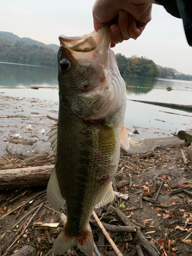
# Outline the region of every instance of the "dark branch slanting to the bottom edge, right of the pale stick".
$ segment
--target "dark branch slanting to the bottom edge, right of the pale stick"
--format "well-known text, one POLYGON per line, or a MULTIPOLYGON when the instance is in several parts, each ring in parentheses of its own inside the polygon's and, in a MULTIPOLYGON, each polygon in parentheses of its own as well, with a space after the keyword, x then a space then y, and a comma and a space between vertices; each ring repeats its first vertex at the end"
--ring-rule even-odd
MULTIPOLYGON (((119 209, 113 206, 111 208, 125 225, 136 227, 119 209)), ((159 253, 152 247, 152 245, 148 242, 148 240, 144 237, 139 229, 136 232, 136 237, 152 256, 159 256, 159 253)))

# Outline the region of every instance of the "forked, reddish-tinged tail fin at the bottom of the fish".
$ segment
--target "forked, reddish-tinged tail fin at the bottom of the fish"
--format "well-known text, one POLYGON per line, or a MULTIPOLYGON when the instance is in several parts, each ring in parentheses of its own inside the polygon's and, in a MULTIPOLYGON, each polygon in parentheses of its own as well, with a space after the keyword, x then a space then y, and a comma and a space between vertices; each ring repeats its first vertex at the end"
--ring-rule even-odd
POLYGON ((87 256, 93 256, 93 234, 91 228, 88 227, 88 230, 80 236, 73 236, 64 227, 53 246, 52 253, 61 255, 74 245, 87 256))

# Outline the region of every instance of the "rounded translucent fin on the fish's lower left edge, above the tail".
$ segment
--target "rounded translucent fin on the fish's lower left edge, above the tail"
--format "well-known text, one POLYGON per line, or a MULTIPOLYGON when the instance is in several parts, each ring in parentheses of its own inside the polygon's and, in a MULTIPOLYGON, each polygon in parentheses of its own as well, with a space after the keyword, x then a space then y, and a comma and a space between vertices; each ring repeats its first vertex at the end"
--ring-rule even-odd
POLYGON ((66 201, 61 195, 55 167, 52 170, 51 177, 47 186, 47 200, 56 210, 59 210, 61 207, 63 207, 66 201))

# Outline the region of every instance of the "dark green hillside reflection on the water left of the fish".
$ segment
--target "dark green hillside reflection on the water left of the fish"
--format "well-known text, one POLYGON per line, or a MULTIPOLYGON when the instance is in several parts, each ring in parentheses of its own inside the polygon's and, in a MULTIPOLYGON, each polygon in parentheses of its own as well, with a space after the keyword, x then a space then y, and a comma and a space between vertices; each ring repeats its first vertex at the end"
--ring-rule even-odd
POLYGON ((0 62, 0 86, 57 86, 57 68, 15 65, 0 62))

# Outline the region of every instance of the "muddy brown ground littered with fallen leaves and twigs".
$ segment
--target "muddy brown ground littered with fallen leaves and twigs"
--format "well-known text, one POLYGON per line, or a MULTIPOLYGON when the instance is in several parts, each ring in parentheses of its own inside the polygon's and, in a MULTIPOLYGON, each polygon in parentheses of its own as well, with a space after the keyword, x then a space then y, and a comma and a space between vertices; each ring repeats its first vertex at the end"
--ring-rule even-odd
MULTIPOLYGON (((183 192, 170 194, 173 190, 191 186, 192 168, 188 158, 189 147, 184 144, 158 147, 146 154, 122 153, 119 168, 113 183, 114 189, 128 195, 127 200, 116 198, 113 203, 96 209, 96 214, 103 223, 124 226, 111 206, 123 212, 124 216, 153 245, 159 255, 191 255, 192 243, 192 199, 183 192), (188 163, 184 164, 181 150, 188 163), (157 191, 162 183, 160 194, 157 191), (122 184, 124 182, 124 184, 122 184), (143 199, 140 199, 139 197, 143 199), (142 203, 142 205, 141 205, 142 203), (141 208, 142 207, 142 208, 141 208), (124 208, 124 209, 122 209, 124 208)), ((27 158, 27 157, 26 157, 27 158)), ((3 169, 24 167, 18 156, 1 157, 0 173, 3 169)), ((49 154, 28 162, 27 166, 49 165, 54 157, 49 154)), ((15 191, 4 191, 0 196, 0 255, 11 255, 24 245, 35 248, 36 255, 51 255, 51 249, 63 227, 61 213, 66 214, 66 207, 60 212, 51 208, 46 198, 46 187, 28 188, 15 191), (25 202, 25 203, 23 203, 25 202), (24 204, 24 207, 22 205, 24 204), (15 209, 15 210, 14 210, 15 209), (36 212, 36 210, 39 210, 36 212), (17 218, 18 217, 18 218, 17 218), (44 229, 34 225, 35 222, 58 223, 58 227, 44 229), (27 227, 27 228, 26 228, 27 227), (14 243, 14 244, 13 244, 14 243)), ((103 237, 100 228, 95 226, 92 216, 91 227, 94 241, 102 255, 115 256, 110 243, 103 237)), ((57 224, 56 224, 57 226, 57 224)), ((143 246, 142 240, 135 232, 108 231, 111 238, 123 255, 138 254, 140 245, 143 255, 151 255, 143 246)), ((65 255, 84 255, 72 248, 65 255)))

